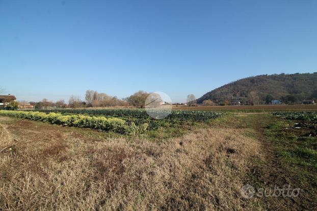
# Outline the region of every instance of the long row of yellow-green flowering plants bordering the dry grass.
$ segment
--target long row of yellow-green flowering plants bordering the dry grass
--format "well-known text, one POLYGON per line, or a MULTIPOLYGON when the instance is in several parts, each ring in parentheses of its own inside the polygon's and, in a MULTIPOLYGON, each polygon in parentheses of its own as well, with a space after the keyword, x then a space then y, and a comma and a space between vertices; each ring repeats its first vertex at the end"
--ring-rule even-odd
POLYGON ((25 112, 25 111, 0 111, 0 115, 30 119, 51 124, 60 124, 64 126, 88 127, 101 129, 104 131, 114 131, 120 134, 137 134, 143 133, 148 124, 143 123, 136 125, 134 122, 127 122, 123 119, 103 116, 78 115, 62 115, 60 113, 43 113, 43 112, 25 112))

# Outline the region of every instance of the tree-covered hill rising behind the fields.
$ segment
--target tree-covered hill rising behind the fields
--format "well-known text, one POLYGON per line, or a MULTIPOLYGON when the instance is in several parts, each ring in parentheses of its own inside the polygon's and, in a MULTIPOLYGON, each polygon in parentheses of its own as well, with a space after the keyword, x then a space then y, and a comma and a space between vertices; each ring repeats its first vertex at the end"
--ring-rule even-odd
POLYGON ((257 75, 226 84, 197 99, 202 103, 211 99, 216 103, 232 98, 247 97, 255 104, 279 99, 285 103, 317 98, 317 72, 257 75))

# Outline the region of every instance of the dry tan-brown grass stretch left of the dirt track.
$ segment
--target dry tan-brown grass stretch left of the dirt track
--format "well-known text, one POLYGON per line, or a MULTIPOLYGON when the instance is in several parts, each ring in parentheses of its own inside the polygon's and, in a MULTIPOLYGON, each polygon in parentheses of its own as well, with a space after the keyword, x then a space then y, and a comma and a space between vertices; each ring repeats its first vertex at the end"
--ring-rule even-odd
POLYGON ((14 153, 0 155, 2 210, 261 209, 240 195, 249 160, 261 156, 244 129, 200 129, 158 143, 0 121, 5 136, 18 139, 14 153))

